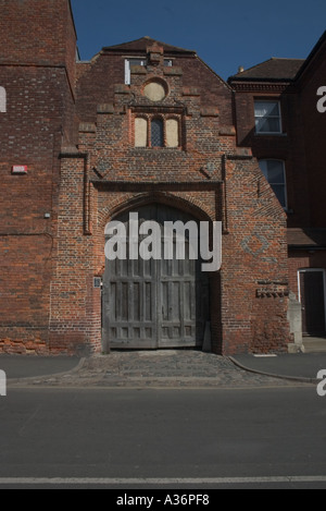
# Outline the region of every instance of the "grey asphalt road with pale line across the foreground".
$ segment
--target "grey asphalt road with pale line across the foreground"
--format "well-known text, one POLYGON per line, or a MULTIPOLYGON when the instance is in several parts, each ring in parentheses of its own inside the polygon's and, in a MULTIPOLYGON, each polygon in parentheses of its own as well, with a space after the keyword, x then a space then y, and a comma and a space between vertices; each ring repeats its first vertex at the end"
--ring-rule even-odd
POLYGON ((326 397, 10 389, 0 488, 326 488, 326 397))

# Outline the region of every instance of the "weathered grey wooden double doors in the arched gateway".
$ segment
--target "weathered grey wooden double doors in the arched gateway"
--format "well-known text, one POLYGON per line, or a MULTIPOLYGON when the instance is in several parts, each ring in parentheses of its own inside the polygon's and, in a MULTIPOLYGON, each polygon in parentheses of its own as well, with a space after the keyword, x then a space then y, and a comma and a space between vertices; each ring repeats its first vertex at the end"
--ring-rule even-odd
MULTIPOLYGON (((154 220, 161 228, 162 257, 108 260, 102 291, 102 342, 109 349, 201 346, 210 317, 209 278, 201 261, 164 258, 164 222, 188 222, 188 215, 163 205, 138 209, 139 224, 154 220)), ((129 214, 115 220, 126 227, 129 214)), ((127 238, 127 247, 129 240, 127 238)), ((127 251, 128 252, 128 251, 127 251)))

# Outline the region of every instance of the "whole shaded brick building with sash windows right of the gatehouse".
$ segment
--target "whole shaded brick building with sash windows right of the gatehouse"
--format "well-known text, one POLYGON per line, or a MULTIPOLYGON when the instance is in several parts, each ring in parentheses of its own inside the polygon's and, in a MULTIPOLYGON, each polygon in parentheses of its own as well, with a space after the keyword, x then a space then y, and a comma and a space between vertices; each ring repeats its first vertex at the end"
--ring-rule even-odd
POLYGON ((325 336, 326 34, 306 60, 271 59, 228 80, 237 143, 253 156, 287 215, 296 344, 325 336))

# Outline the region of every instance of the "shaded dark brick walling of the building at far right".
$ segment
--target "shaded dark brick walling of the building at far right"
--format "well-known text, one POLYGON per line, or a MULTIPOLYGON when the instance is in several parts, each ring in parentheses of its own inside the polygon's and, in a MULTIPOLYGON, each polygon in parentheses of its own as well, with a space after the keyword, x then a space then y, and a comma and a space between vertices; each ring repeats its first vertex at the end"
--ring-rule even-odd
MULTIPOLYGON (((285 161, 287 178, 287 227, 297 228, 300 235, 289 247, 289 288, 298 299, 298 271, 304 268, 326 268, 325 230, 326 206, 324 199, 325 161, 323 141, 326 136, 326 113, 317 111, 317 90, 326 85, 326 42, 322 36, 303 63, 296 80, 284 83, 267 77, 262 81, 234 83, 238 143, 250 145, 260 158, 285 161), (258 135, 254 130, 254 99, 278 99, 281 108, 283 133, 258 135), (298 229, 299 228, 299 229, 298 229), (309 246, 304 240, 310 228, 321 231, 318 242, 309 246), (305 248, 304 248, 305 246, 305 248)), ((238 76, 239 78, 239 76, 238 76)), ((274 326, 273 326, 274 328, 274 326)))

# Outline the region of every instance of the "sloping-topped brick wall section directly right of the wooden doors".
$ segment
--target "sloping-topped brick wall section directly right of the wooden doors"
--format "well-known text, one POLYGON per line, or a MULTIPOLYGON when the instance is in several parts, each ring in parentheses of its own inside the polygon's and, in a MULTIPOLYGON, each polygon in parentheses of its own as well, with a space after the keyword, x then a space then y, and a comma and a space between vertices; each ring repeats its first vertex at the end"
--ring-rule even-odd
POLYGON ((284 351, 290 341, 286 219, 251 159, 226 170, 228 234, 224 236, 224 353, 284 351))

